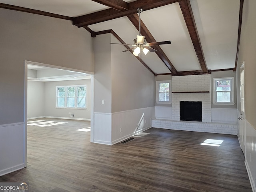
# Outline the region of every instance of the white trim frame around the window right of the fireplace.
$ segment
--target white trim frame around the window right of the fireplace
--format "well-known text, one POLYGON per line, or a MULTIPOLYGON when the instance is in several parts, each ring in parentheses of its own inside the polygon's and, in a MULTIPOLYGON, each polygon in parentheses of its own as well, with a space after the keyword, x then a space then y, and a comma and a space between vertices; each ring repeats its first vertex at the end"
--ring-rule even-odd
POLYGON ((212 79, 212 84, 213 84, 213 104, 214 105, 234 105, 235 102, 235 90, 234 90, 234 77, 220 77, 220 78, 213 78, 212 79), (231 91, 230 91, 230 102, 217 102, 217 91, 216 91, 216 80, 231 80, 231 91))

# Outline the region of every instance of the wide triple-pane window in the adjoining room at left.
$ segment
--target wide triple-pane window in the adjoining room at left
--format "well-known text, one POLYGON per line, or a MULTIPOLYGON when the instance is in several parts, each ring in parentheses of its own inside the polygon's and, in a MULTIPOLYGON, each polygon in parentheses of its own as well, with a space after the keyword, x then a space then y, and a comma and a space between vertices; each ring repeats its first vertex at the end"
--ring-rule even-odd
POLYGON ((86 85, 56 86, 57 108, 86 108, 86 85))

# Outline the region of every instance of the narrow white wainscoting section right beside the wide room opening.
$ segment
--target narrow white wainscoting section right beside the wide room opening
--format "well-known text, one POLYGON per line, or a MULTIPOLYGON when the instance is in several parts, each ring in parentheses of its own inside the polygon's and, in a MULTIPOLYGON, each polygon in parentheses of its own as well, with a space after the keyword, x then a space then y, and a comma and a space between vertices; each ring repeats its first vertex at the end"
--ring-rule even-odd
POLYGON ((111 145, 111 113, 94 113, 94 143, 111 145))

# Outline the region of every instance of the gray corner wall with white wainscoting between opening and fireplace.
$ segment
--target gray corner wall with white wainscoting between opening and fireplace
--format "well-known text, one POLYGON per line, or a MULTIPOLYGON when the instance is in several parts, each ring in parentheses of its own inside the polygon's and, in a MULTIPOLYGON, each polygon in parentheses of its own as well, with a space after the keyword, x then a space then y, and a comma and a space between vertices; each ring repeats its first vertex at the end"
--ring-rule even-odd
POLYGON ((117 42, 112 34, 94 39, 93 142, 101 144, 129 138, 138 123, 140 130, 149 128, 155 116, 154 75, 133 54, 122 53, 120 45, 110 42, 117 42))

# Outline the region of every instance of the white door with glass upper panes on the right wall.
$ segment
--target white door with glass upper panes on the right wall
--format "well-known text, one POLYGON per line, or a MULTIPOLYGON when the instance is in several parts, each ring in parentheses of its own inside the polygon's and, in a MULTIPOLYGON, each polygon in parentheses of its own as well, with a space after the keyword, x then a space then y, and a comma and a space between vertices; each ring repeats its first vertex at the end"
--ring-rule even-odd
POLYGON ((245 89, 245 84, 244 84, 244 62, 240 68, 240 104, 241 104, 241 110, 240 110, 240 115, 238 116, 238 137, 240 140, 241 148, 242 151, 245 154, 245 139, 246 139, 246 134, 245 134, 245 114, 244 114, 244 107, 245 107, 245 97, 244 97, 244 89, 245 89))

